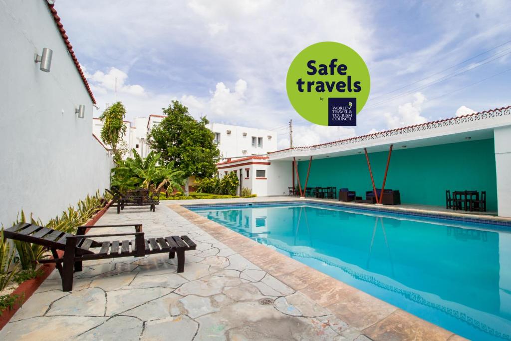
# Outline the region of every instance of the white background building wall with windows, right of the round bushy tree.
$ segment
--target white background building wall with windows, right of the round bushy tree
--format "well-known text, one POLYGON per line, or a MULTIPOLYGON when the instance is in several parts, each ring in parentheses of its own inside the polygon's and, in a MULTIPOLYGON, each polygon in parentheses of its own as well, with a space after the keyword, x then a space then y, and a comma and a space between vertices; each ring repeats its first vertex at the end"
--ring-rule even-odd
POLYGON ((211 131, 220 133, 218 149, 224 158, 266 154, 268 151, 277 150, 277 134, 274 131, 220 123, 210 123, 206 126, 211 131), (227 134, 227 130, 230 130, 230 134, 227 134), (243 133, 246 133, 246 136, 243 136, 243 133), (268 139, 269 136, 271 139, 268 139), (263 138, 262 146, 258 147, 256 144, 252 147, 252 137, 263 138))

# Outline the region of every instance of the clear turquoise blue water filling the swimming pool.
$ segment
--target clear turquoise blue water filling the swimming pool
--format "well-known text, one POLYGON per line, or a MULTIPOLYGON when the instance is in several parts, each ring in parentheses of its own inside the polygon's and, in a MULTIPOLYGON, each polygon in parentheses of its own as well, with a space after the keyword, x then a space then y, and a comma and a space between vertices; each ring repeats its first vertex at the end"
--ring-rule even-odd
POLYGON ((511 339, 502 226, 314 203, 190 209, 456 334, 511 339))

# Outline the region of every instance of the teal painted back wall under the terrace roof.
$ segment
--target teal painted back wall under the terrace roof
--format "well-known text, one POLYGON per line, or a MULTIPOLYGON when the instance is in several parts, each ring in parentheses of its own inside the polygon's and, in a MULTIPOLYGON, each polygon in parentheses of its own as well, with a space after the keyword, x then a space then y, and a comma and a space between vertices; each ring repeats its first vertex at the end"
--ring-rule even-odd
MULTIPOLYGON (((388 152, 369 153, 375 185, 382 187, 388 152)), ((305 185, 309 161, 298 162, 305 185)), ((295 180, 297 181, 297 180, 295 180)), ((296 182, 297 185, 297 182, 296 182)), ((365 197, 373 189, 364 153, 312 160, 307 187, 336 186, 365 197)), ((385 188, 399 190, 402 203, 445 206, 446 190, 486 191, 489 211, 497 211, 494 140, 468 141, 392 151, 385 188)))

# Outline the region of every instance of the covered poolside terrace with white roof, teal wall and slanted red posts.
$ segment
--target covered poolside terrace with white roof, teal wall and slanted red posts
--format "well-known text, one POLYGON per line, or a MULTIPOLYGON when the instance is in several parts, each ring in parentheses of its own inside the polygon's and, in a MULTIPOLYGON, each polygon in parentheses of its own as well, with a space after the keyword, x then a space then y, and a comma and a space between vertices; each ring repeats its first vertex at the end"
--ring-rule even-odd
POLYGON ((363 198, 376 192, 379 203, 381 189, 392 189, 400 191, 397 207, 452 212, 446 191, 474 190, 485 192, 486 211, 477 214, 511 217, 509 141, 508 106, 269 156, 292 164, 289 186, 300 196, 311 193, 306 188, 347 188, 363 198))

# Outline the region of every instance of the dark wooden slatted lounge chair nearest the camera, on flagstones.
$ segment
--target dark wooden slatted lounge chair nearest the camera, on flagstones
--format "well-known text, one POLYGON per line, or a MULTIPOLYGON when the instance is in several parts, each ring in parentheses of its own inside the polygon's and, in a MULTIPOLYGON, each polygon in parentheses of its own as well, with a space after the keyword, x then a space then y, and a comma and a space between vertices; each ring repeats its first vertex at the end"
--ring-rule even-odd
POLYGON ((169 253, 174 258, 177 253, 177 272, 184 271, 184 252, 195 250, 197 246, 188 236, 171 236, 166 238, 144 238, 142 224, 128 225, 91 225, 80 226, 77 235, 51 230, 29 223, 18 223, 4 231, 4 238, 20 240, 48 247, 53 259, 42 259, 39 263, 55 263, 62 278, 62 291, 73 290, 73 272, 82 270, 82 262, 86 260, 143 257, 145 255, 169 253), (109 233, 85 235, 88 228, 123 228, 134 227, 134 233, 109 233), (122 241, 95 241, 92 238, 121 237, 122 241), (128 239, 126 236, 134 236, 128 239), (92 248, 98 248, 93 251, 92 248), (57 250, 64 251, 59 258, 57 250))

